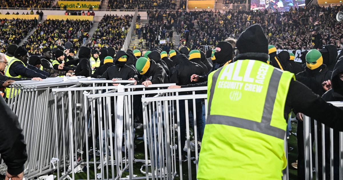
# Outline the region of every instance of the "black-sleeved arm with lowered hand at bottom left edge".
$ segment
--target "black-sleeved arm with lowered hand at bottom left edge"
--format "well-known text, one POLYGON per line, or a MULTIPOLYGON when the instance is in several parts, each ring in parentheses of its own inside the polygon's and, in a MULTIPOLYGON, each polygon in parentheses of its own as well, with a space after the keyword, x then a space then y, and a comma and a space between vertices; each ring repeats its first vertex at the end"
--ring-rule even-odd
POLYGON ((18 117, 0 97, 0 154, 7 165, 5 179, 23 179, 27 160, 26 144, 18 117))

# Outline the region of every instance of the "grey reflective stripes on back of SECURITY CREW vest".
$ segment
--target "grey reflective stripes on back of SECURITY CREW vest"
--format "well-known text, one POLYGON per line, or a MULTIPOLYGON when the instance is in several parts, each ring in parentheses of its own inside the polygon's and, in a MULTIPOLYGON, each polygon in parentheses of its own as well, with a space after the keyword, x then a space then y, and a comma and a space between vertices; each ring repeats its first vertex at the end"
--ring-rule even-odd
POLYGON ((274 69, 272 72, 272 76, 269 80, 267 96, 265 98, 261 122, 256 122, 256 121, 251 121, 251 120, 236 118, 236 117, 229 117, 229 116, 210 115, 214 88, 217 83, 217 79, 220 72, 221 72, 220 70, 217 70, 213 74, 212 84, 211 84, 211 89, 210 89, 209 106, 208 106, 208 109, 209 109, 208 119, 206 120, 206 124, 229 125, 229 126, 234 126, 237 128, 249 129, 252 131, 256 131, 256 132, 268 134, 268 135, 271 135, 280 139, 284 139, 285 130, 275 128, 270 125, 270 122, 272 120, 272 113, 273 113, 276 93, 277 93, 277 87, 279 86, 282 72, 276 69, 274 69))

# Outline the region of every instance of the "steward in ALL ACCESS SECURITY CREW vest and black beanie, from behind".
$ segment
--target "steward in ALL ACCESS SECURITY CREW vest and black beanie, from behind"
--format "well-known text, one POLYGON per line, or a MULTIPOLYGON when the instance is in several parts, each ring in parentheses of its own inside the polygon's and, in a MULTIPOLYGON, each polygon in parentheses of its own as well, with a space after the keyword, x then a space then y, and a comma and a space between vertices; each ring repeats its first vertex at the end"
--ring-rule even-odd
POLYGON ((236 46, 235 62, 208 77, 197 179, 280 180, 291 109, 339 131, 343 111, 295 81, 293 73, 266 63, 268 40, 260 25, 248 27, 236 46))

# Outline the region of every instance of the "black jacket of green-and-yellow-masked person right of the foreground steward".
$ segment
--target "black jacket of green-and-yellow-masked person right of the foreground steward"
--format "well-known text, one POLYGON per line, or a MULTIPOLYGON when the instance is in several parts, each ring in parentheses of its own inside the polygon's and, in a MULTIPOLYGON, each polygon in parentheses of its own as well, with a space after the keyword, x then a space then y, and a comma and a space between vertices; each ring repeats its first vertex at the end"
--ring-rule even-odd
POLYGON ((296 74, 295 77, 297 81, 305 84, 314 93, 322 96, 325 90, 321 84, 331 79, 332 71, 329 71, 325 64, 322 64, 319 68, 321 69, 320 72, 314 73, 315 70, 305 67, 305 71, 296 74))

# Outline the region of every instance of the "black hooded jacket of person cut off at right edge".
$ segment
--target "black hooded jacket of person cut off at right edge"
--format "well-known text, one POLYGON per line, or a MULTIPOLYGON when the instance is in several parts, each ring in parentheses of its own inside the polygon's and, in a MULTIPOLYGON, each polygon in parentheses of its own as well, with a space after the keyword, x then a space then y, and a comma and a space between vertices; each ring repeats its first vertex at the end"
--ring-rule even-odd
POLYGON ((343 81, 339 74, 343 73, 343 57, 341 57, 332 72, 331 89, 327 91, 322 98, 326 101, 343 101, 343 81))

